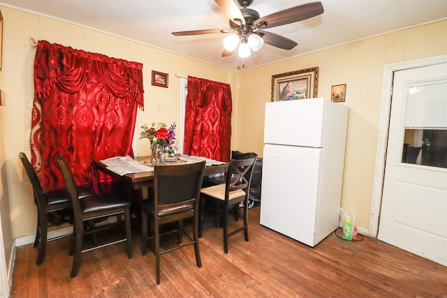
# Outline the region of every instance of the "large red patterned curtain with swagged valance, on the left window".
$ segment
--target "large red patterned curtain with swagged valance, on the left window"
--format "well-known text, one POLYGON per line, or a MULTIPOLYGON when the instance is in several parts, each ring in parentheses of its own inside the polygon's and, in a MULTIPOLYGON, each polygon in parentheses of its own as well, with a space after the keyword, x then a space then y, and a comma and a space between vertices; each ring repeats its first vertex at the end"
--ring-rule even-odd
MULTIPOLYGON (((104 181, 94 159, 133 156, 142 64, 40 40, 34 60, 31 163, 44 191, 65 186, 56 163, 63 154, 76 183, 104 181)), ((93 182, 93 185, 90 184, 93 182)))

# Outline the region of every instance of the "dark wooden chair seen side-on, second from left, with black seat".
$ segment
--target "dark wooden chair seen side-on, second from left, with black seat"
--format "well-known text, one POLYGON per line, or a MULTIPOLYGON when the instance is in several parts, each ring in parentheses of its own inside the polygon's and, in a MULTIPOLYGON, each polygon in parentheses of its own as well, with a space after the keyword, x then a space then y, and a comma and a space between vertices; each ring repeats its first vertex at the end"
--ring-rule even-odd
POLYGON ((70 193, 71 204, 73 207, 73 237, 71 241, 70 253, 74 253, 73 267, 71 268, 70 277, 73 278, 78 274, 80 267, 81 253, 91 251, 95 248, 101 248, 111 244, 127 241, 127 256, 132 258, 132 238, 131 238, 131 202, 124 198, 121 193, 104 193, 98 195, 90 195, 88 197, 78 199, 78 187, 75 184, 73 173, 68 167, 64 156, 57 157, 57 163, 64 176, 68 193, 70 193), (96 245, 91 248, 83 248, 83 238, 85 234, 93 234, 109 228, 115 228, 122 225, 122 215, 124 215, 124 223, 126 230, 126 238, 117 241, 109 241, 106 244, 96 245), (91 225, 92 220, 105 218, 108 216, 117 216, 117 223, 107 223, 103 225, 91 225))

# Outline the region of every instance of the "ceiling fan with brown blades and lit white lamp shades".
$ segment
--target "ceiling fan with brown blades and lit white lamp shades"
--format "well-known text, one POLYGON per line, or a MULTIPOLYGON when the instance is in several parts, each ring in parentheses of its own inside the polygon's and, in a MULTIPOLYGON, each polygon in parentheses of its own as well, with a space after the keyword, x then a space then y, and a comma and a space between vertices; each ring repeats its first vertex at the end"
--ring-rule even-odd
POLYGON ((264 43, 284 50, 291 50, 298 45, 294 40, 262 29, 306 20, 310 17, 321 15, 324 11, 321 2, 316 1, 260 17, 256 10, 247 8, 253 1, 214 0, 223 13, 228 16, 230 28, 178 31, 172 34, 174 36, 191 36, 210 33, 230 33, 223 39, 225 49, 222 52, 222 57, 230 56, 239 47, 239 57, 246 58, 251 54, 250 49, 254 51, 260 50, 264 43))

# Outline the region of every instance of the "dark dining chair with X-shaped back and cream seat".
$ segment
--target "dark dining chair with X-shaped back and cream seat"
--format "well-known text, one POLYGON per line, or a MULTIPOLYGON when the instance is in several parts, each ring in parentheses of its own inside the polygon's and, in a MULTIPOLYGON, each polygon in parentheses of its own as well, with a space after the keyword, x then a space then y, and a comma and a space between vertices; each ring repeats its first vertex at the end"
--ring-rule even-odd
MULTIPOLYGON (((228 253, 228 238, 237 232, 244 231, 245 241, 249 241, 248 230, 248 198, 256 156, 246 159, 232 159, 226 172, 226 183, 205 187, 200 190, 200 223, 199 237, 202 237, 203 223, 216 216, 223 222, 223 251, 228 253), (221 205, 221 212, 215 216, 205 216, 205 201, 212 200, 221 205), (238 207, 242 202, 243 215, 242 226, 228 232, 228 218, 230 209, 238 207)), ((237 220, 237 218, 235 218, 237 220)))

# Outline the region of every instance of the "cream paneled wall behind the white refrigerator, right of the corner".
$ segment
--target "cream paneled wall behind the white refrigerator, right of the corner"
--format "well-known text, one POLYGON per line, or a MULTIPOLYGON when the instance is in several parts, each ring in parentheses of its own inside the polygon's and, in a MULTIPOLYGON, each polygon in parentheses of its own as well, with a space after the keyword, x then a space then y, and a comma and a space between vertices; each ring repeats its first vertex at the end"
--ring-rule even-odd
POLYGON ((444 21, 244 70, 238 80, 237 149, 262 155, 264 107, 270 101, 272 75, 318 66, 318 97, 330 98, 332 85, 346 84, 346 101, 339 103, 349 107, 342 207, 353 208, 357 225, 367 229, 383 66, 446 53, 447 22, 444 21))

